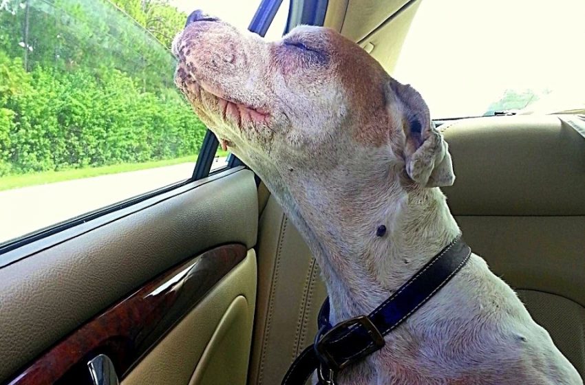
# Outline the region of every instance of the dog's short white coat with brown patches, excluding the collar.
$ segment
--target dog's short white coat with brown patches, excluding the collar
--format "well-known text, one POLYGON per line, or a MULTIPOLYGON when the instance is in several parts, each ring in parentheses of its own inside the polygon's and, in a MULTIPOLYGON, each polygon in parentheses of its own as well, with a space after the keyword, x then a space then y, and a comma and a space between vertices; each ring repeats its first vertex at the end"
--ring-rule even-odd
MULTIPOLYGON (((459 233, 451 157, 423 98, 361 48, 301 26, 269 42, 217 20, 173 43, 175 83, 308 243, 332 323, 369 314, 459 233), (376 236, 385 225, 384 236, 376 236)), ((475 254, 339 384, 583 384, 475 254)))

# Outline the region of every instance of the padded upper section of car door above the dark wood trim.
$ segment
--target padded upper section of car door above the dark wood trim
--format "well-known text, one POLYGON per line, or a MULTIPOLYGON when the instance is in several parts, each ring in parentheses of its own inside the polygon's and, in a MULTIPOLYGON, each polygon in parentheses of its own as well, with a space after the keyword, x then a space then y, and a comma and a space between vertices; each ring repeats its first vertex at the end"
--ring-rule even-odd
MULTIPOLYGON (((131 212, 107 214, 84 232, 71 229, 69 238, 56 234, 58 242, 50 236, 38 241, 41 245, 22 248, 30 254, 12 256, 0 268, 0 383, 169 268, 220 245, 242 245, 244 252, 253 248, 257 210, 253 173, 236 168, 148 199, 131 212)), ((237 296, 254 306, 255 270, 253 277, 246 270, 246 278, 240 278, 240 265, 228 274, 235 274, 231 279, 240 290, 221 298, 226 309, 237 296)), ((202 300, 221 296, 216 289, 202 300)), ((175 318, 178 322, 181 316, 175 318)), ((208 326, 207 333, 217 329, 217 323, 208 326)))

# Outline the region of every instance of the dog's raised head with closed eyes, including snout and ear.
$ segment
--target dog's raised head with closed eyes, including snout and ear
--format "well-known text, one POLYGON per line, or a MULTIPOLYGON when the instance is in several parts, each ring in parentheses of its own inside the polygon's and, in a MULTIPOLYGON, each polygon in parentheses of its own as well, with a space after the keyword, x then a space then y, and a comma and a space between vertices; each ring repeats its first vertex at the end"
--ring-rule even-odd
POLYGON ((175 83, 252 168, 328 168, 352 151, 383 148, 418 186, 454 181, 447 144, 421 95, 333 30, 300 26, 266 41, 196 11, 173 53, 175 83))

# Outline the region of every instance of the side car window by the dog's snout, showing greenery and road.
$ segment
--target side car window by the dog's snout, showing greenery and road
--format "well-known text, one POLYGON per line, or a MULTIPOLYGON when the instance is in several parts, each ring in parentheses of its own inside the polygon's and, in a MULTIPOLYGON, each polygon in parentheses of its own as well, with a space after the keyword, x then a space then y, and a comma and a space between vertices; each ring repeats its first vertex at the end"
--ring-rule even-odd
MULTIPOLYGON (((187 3, 0 0, 0 243, 191 177, 206 127, 169 51, 187 3)), ((259 1, 229 3, 249 23, 259 1)))

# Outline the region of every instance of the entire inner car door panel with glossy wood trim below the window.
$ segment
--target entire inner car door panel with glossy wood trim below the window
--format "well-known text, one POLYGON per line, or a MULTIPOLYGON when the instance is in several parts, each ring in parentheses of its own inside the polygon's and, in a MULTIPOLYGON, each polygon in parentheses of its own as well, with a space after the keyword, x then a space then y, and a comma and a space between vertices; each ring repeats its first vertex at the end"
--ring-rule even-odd
POLYGON ((88 383, 87 378, 83 382, 71 379, 87 374, 86 360, 96 353, 112 355, 120 376, 132 373, 130 381, 139 373, 151 373, 138 367, 151 367, 147 362, 152 363, 154 354, 164 347, 171 353, 165 354, 153 370, 175 373, 178 366, 171 366, 169 357, 181 358, 185 347, 164 344, 175 334, 193 349, 189 360, 185 360, 191 369, 184 384, 191 380, 202 356, 208 363, 198 369, 200 377, 205 380, 206 373, 215 371, 211 358, 227 354, 225 341, 234 336, 237 357, 231 364, 233 371, 226 375, 245 377, 246 370, 242 368, 248 362, 256 285, 255 254, 248 252, 246 256, 246 250, 255 246, 257 221, 253 173, 237 168, 0 255, 0 384, 52 384, 67 378, 74 382, 65 383, 83 385, 88 383), (234 250, 241 250, 237 252, 239 259, 230 254, 234 250), (200 255, 205 258, 199 258, 200 255), (185 263, 193 270, 181 272, 179 267, 185 263), (214 266, 223 266, 224 270, 204 274, 214 266), (182 275, 173 278, 175 271, 182 275), (198 275, 193 276, 192 272, 198 275), (171 275, 164 278, 164 274, 171 275), (160 281, 160 277, 167 281, 160 281), (183 278, 191 278, 189 286, 182 287, 177 298, 172 295, 169 298, 178 301, 182 309, 187 309, 186 313, 175 313, 166 299, 158 300, 154 307, 148 302, 159 298, 161 292, 168 292, 169 285, 179 287, 182 281, 178 280, 183 278), (220 281, 214 281, 217 279, 220 281), (156 280, 163 282, 162 286, 153 289, 151 296, 147 293, 142 300, 136 300, 133 294, 141 288, 144 291, 156 280), (209 285, 211 291, 198 285, 198 280, 201 285, 209 285), (195 302, 191 305, 190 300, 195 302), (118 307, 124 303, 138 305, 129 307, 131 311, 125 313, 118 307), (164 321, 160 325, 156 324, 159 318, 164 321), (87 331, 100 319, 108 321, 94 329, 94 333, 87 331), (145 322, 150 322, 152 329, 132 329, 133 325, 145 322), (187 335, 183 334, 187 328, 183 325, 189 325, 185 322, 192 322, 195 328, 187 335), (104 334, 112 330, 111 336, 104 334), (156 334, 150 335, 151 331, 161 337, 155 339, 156 334), (217 342, 209 345, 214 333, 217 342), (70 345, 81 349, 76 350, 81 358, 79 362, 70 362, 74 355, 63 353, 63 349, 59 355, 58 347, 76 336, 85 336, 78 338, 76 345, 70 345), (138 342, 132 338, 138 338, 140 346, 134 346, 138 342), (158 342, 162 344, 160 348, 158 342), (217 353, 215 346, 222 347, 222 353, 217 353), (136 362, 118 357, 119 347, 134 349, 134 354, 140 357, 136 362), (150 353, 144 355, 140 349, 150 353), (50 364, 39 365, 43 359, 50 364), (145 364, 140 363, 142 359, 145 364), (35 363, 38 365, 34 366, 35 363))

